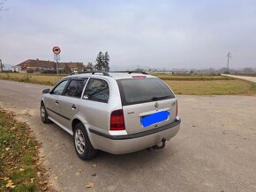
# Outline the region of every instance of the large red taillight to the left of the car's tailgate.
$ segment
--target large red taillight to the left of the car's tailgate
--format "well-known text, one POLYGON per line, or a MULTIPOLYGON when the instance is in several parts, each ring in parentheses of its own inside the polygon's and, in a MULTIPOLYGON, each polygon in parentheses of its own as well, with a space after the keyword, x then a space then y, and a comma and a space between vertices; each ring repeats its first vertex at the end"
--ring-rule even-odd
POLYGON ((124 130, 124 113, 123 109, 113 111, 110 116, 110 130, 124 130))

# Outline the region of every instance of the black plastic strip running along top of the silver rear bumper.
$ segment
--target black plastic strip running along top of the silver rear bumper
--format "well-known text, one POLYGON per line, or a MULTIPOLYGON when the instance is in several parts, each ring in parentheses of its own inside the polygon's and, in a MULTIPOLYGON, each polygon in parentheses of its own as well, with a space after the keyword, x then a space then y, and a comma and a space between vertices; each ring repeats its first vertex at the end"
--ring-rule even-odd
POLYGON ((94 133, 94 134, 98 135, 98 136, 109 138, 109 139, 112 139, 112 140, 124 140, 124 139, 145 137, 145 136, 157 133, 157 132, 161 132, 161 131, 166 130, 166 129, 171 129, 173 127, 176 127, 178 124, 180 124, 180 122, 181 122, 181 120, 179 119, 179 120, 176 120, 175 122, 171 122, 168 125, 164 125, 160 128, 150 129, 150 130, 146 130, 146 131, 143 131, 143 132, 134 133, 134 134, 130 134, 130 135, 122 135, 122 136, 111 136, 109 134, 105 134, 105 133, 102 133, 102 132, 100 132, 98 130, 94 130, 94 129, 89 129, 89 131, 91 133, 94 133))

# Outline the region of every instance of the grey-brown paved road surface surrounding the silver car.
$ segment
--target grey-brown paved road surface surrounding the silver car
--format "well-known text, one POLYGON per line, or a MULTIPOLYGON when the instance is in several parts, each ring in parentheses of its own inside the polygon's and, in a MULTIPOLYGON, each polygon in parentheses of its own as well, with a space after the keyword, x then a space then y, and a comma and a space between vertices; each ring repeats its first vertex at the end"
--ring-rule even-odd
POLYGON ((182 126, 163 150, 83 161, 69 134, 41 123, 44 88, 0 80, 0 106, 34 130, 57 190, 256 191, 256 97, 178 96, 182 126))

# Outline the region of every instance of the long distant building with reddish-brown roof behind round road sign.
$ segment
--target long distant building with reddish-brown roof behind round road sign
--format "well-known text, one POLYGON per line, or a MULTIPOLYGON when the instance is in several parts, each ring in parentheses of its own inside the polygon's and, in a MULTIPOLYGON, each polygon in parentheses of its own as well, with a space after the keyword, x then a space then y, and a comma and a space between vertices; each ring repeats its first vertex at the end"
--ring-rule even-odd
MULTIPOLYGON (((58 70, 83 70, 83 63, 58 63, 58 70)), ((12 67, 12 71, 16 72, 28 72, 28 73, 42 73, 42 72, 54 72, 56 71, 56 62, 43 61, 39 59, 28 59, 23 63, 19 63, 12 67)))

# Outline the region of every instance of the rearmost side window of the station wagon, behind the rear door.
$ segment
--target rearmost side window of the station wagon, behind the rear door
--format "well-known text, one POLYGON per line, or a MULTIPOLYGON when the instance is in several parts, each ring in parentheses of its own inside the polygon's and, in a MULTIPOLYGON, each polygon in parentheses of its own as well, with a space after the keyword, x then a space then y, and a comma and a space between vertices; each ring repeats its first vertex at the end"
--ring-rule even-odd
POLYGON ((109 101, 109 85, 106 81, 90 78, 83 99, 107 103, 109 101))

